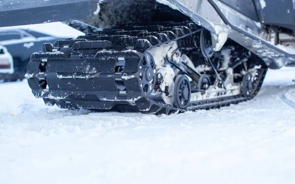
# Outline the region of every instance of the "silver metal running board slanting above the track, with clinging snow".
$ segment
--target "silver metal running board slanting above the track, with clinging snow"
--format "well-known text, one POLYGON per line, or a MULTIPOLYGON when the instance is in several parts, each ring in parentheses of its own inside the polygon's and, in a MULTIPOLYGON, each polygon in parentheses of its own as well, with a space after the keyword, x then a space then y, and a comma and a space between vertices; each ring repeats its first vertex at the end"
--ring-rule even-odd
POLYGON ((237 32, 236 30, 233 30, 227 26, 207 0, 167 1, 170 2, 166 3, 167 5, 172 8, 177 7, 179 11, 189 16, 194 22, 205 27, 211 32, 211 34, 216 35, 212 36, 213 38, 215 37, 215 43, 213 41, 215 44, 215 50, 220 48, 220 46, 216 47, 216 44, 219 42, 218 40, 223 41, 226 35, 224 33, 228 33, 229 38, 258 55, 265 61, 269 68, 279 69, 290 62, 290 60, 294 60, 295 58, 294 54, 288 53, 280 47, 270 44, 267 41, 268 33, 261 27, 260 23, 255 22, 236 12, 218 0, 213 1, 228 19, 228 21, 238 30, 247 33, 248 36, 246 34, 241 34, 240 32, 237 32), (249 38, 249 35, 251 35, 252 38, 249 38))

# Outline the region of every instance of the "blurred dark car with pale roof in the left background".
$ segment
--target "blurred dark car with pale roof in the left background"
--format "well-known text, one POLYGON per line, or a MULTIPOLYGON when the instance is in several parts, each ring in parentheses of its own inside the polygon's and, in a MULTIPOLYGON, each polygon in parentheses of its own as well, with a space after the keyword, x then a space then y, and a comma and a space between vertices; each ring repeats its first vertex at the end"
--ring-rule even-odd
POLYGON ((8 79, 9 81, 24 79, 31 54, 41 50, 42 44, 55 44, 60 39, 64 38, 30 29, 1 29, 0 45, 5 46, 13 58, 13 63, 10 65, 13 66, 13 72, 10 74, 0 73, 0 79, 8 79))

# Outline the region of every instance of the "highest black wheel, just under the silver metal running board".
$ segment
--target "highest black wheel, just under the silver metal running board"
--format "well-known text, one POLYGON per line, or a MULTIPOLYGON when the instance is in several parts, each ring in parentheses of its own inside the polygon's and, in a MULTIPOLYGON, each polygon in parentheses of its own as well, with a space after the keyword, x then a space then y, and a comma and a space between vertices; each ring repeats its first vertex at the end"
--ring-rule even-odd
POLYGON ((204 57, 210 58, 214 54, 211 33, 206 29, 202 29, 200 35, 200 47, 204 57))

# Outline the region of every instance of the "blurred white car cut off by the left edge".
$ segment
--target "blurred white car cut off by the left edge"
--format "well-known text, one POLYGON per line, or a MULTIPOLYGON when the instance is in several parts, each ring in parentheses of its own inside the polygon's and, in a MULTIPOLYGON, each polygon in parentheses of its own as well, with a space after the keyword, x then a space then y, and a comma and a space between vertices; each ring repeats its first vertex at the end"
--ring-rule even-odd
POLYGON ((12 73, 14 73, 12 56, 5 46, 0 46, 0 76, 12 73))

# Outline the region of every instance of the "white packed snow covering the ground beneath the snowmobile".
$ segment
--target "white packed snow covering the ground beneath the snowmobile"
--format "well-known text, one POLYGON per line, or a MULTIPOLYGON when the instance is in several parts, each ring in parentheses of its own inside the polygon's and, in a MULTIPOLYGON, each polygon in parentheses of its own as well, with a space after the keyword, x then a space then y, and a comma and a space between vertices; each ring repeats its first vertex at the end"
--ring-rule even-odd
POLYGON ((168 116, 60 110, 2 83, 0 183, 294 184, 294 78, 269 70, 251 101, 168 116))

